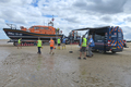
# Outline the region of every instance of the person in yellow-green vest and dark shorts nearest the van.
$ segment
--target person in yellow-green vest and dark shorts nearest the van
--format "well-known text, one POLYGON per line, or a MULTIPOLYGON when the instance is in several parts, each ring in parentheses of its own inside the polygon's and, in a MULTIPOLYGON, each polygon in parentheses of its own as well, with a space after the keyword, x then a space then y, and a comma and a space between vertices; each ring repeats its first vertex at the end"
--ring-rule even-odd
POLYGON ((82 52, 84 52, 84 58, 83 59, 86 60, 86 45, 87 45, 86 42, 87 42, 87 40, 86 40, 85 36, 83 35, 82 44, 81 44, 81 47, 80 47, 80 57, 79 57, 79 59, 81 59, 82 52))

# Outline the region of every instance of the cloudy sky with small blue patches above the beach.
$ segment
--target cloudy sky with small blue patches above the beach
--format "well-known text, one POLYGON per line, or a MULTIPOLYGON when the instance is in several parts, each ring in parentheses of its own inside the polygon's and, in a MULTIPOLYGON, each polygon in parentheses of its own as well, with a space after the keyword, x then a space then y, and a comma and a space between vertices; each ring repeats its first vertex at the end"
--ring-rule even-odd
POLYGON ((31 27, 53 26, 64 35, 85 27, 119 26, 123 38, 131 40, 131 0, 0 0, 0 39, 9 39, 8 24, 31 27))

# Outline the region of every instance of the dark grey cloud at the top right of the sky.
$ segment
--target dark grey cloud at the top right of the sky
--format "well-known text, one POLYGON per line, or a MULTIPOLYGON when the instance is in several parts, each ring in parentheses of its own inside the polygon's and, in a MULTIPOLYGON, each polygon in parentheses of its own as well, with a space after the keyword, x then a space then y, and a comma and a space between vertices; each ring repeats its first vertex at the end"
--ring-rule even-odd
POLYGON ((123 12, 126 2, 127 0, 78 0, 73 5, 100 14, 116 14, 123 12))

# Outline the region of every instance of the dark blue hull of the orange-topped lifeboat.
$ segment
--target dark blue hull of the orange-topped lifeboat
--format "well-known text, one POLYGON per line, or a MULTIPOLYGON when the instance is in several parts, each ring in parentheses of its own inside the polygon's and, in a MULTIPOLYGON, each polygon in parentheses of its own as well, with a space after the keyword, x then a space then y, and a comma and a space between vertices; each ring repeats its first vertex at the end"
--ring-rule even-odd
POLYGON ((47 34, 35 34, 29 32, 24 32, 20 29, 11 29, 11 28, 3 28, 7 36, 12 39, 13 41, 17 41, 17 39, 22 38, 22 40, 37 40, 38 37, 43 41, 48 41, 50 38, 56 40, 57 38, 62 38, 63 35, 47 35, 47 34))

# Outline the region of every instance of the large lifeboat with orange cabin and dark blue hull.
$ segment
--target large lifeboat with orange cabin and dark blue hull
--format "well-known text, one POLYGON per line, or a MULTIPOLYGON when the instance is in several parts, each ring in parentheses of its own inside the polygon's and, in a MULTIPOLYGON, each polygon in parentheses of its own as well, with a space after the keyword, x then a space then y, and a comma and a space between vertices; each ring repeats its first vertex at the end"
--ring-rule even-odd
POLYGON ((23 44, 35 44, 38 40, 38 38, 41 39, 43 44, 49 41, 50 38, 52 38, 55 42, 57 42, 57 38, 62 38, 63 34, 61 33, 61 30, 57 32, 51 22, 49 24, 48 26, 34 25, 29 28, 21 26, 21 29, 16 29, 16 27, 12 27, 12 24, 8 24, 10 28, 3 28, 3 30, 10 38, 9 42, 13 42, 14 46, 16 46, 16 42, 20 38, 22 38, 23 44), (49 24, 51 24, 51 26, 49 24))

